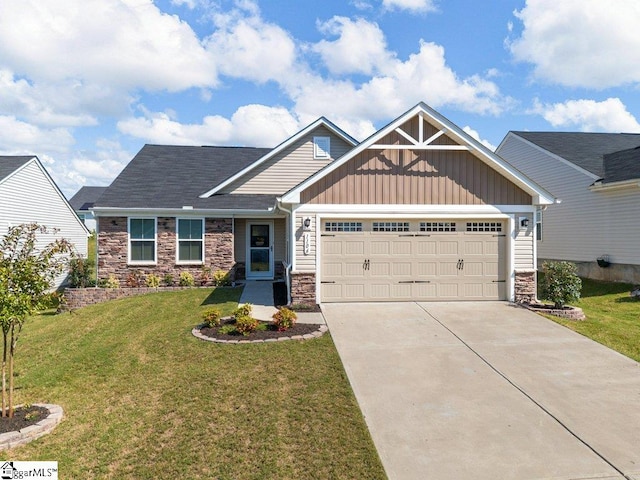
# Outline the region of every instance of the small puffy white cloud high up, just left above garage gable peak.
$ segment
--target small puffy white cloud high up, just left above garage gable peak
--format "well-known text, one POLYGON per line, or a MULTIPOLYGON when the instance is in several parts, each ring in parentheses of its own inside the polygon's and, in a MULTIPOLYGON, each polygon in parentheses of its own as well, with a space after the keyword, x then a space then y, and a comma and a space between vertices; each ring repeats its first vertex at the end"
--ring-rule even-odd
POLYGON ((332 73, 370 75, 384 70, 394 59, 387 50, 384 33, 375 23, 336 16, 319 23, 318 30, 325 35, 338 36, 337 40, 322 40, 312 47, 332 73))

